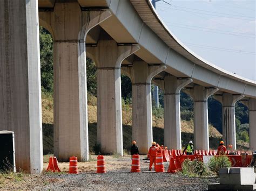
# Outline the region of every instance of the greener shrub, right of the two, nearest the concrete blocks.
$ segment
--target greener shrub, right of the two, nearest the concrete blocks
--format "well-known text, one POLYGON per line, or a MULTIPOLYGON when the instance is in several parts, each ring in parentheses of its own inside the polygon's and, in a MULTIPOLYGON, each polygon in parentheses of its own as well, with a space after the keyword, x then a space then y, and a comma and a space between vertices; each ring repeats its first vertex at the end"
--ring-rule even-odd
POLYGON ((231 161, 226 155, 218 155, 212 157, 208 163, 210 170, 216 174, 219 174, 220 168, 229 168, 231 167, 231 161))

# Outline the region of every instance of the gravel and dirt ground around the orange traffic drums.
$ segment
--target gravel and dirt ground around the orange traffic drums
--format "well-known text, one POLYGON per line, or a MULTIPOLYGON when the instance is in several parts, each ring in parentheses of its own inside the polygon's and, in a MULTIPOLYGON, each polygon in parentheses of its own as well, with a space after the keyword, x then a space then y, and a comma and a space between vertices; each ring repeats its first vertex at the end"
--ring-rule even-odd
MULTIPOLYGON (((62 172, 51 173, 45 169, 41 175, 25 173, 0 174, 0 189, 36 189, 36 190, 206 190, 208 183, 217 183, 218 178, 188 178, 181 174, 155 173, 148 171, 149 161, 140 156, 141 173, 130 173, 130 155, 117 158, 105 156, 105 174, 96 174, 96 156, 89 162, 79 162, 79 174, 68 174, 69 163, 59 162, 62 172)), ((45 157, 44 161, 49 158, 45 157)), ((165 162, 165 171, 169 162, 165 162)))

